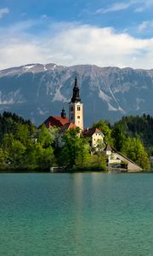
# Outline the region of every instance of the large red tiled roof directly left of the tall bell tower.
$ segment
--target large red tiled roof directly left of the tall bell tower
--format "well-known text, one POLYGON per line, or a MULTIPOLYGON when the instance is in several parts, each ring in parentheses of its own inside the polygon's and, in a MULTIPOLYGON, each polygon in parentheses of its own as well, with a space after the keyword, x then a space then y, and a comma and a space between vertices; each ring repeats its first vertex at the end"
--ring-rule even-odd
POLYGON ((69 122, 69 119, 63 119, 60 116, 49 116, 48 119, 46 119, 43 124, 45 124, 48 128, 57 126, 61 127, 62 125, 65 125, 69 122))

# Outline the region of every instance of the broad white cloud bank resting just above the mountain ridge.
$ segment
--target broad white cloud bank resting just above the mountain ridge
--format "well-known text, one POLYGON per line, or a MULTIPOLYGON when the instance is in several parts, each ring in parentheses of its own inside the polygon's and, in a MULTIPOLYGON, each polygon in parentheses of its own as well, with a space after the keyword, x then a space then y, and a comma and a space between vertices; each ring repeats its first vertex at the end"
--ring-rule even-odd
POLYGON ((13 25, 3 33, 0 29, 0 69, 34 62, 153 67, 153 38, 133 38, 111 27, 79 24, 50 25, 46 35, 36 37, 26 32, 33 24, 13 25))

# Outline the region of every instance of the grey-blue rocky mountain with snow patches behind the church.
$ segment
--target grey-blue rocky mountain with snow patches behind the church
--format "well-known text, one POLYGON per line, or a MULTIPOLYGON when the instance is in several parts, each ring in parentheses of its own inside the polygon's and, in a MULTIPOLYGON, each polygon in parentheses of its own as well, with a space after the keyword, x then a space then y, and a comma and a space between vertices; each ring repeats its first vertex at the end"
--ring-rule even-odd
POLYGON ((71 99, 77 75, 85 125, 126 114, 153 115, 153 69, 29 64, 0 71, 0 110, 19 113, 37 125, 59 115, 71 99))

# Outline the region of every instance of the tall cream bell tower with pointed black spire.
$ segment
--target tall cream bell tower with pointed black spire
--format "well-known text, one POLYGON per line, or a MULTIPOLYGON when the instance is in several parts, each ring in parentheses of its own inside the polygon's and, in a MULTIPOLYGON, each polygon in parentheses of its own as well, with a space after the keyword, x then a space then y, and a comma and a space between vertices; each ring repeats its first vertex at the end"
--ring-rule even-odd
POLYGON ((77 125, 83 131, 83 104, 79 95, 77 78, 73 88, 73 96, 69 103, 69 122, 77 125))

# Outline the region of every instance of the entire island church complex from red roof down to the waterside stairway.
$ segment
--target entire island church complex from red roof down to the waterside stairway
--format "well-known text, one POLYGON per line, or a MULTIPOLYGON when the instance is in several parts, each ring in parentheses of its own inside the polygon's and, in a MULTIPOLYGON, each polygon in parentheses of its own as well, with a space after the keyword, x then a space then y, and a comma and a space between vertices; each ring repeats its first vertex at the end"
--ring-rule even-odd
POLYGON ((83 137, 88 137, 91 148, 94 152, 99 150, 99 144, 104 145, 102 151, 105 152, 108 166, 120 166, 122 162, 125 162, 127 164, 128 172, 142 171, 141 167, 136 165, 132 160, 127 159, 126 156, 118 153, 116 149, 105 144, 105 135, 98 128, 88 128, 84 130, 83 103, 81 101, 80 91, 77 84, 77 77, 75 78, 71 102, 69 102, 69 118, 66 118, 65 109, 63 108, 60 116, 49 116, 43 124, 46 125, 48 129, 54 126, 59 127, 59 147, 63 146, 62 136, 65 131, 80 128, 80 133, 82 133, 83 137))

